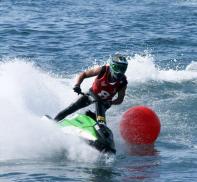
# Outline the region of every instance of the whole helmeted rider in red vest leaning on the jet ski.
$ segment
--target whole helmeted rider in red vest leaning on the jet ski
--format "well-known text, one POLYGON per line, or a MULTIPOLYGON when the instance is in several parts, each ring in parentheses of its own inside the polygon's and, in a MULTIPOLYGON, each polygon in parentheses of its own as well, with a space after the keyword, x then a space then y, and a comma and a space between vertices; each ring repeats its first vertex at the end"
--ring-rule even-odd
POLYGON ((56 121, 64 119, 69 114, 92 104, 91 96, 98 101, 96 106, 96 120, 105 124, 105 112, 111 105, 119 105, 123 102, 127 88, 127 78, 125 72, 128 62, 125 56, 115 54, 110 58, 110 64, 96 68, 91 68, 79 74, 74 92, 81 94, 80 85, 85 78, 97 76, 88 94, 82 95, 75 103, 57 114, 56 121), (117 98, 113 97, 117 94, 117 98))

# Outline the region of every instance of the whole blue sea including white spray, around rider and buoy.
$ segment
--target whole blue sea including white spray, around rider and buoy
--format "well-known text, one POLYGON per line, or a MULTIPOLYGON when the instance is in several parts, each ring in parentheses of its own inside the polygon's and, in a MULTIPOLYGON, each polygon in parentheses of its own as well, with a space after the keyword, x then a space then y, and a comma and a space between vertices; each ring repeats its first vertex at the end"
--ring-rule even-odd
POLYGON ((196 20, 196 0, 1 0, 0 181, 196 181, 196 20), (117 148, 106 156, 42 116, 75 101, 76 75, 116 52, 129 62, 128 88, 106 113, 117 148), (160 118, 151 149, 120 136, 136 105, 160 118))

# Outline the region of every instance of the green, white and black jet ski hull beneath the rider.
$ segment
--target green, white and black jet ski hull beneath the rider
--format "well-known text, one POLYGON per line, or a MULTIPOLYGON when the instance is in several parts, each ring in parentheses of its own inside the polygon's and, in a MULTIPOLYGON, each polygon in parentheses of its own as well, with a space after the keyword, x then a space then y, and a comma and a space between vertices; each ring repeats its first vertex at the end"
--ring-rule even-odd
POLYGON ((113 134, 106 126, 98 126, 97 122, 85 114, 77 114, 58 122, 65 134, 82 138, 89 145, 104 153, 116 153, 113 134))

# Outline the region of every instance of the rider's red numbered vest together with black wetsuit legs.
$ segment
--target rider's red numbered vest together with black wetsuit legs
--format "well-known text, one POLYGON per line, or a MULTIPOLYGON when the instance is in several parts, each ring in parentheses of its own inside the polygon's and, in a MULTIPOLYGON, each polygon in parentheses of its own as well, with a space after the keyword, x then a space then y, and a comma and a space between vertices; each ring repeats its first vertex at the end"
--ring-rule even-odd
MULTIPOLYGON (((110 74, 109 69, 110 68, 108 65, 105 65, 101 68, 101 71, 94 80, 89 92, 93 97, 99 97, 99 99, 102 100, 101 102, 98 101, 95 103, 97 118, 98 116, 105 118, 105 112, 107 109, 109 109, 109 107, 106 107, 103 103, 112 100, 116 93, 127 85, 126 76, 123 76, 121 80, 110 83, 108 79, 110 74)), ((54 119, 60 121, 69 114, 72 114, 73 112, 82 109, 90 104, 92 104, 92 101, 89 96, 83 95, 75 103, 71 104, 66 109, 58 113, 54 119)))

